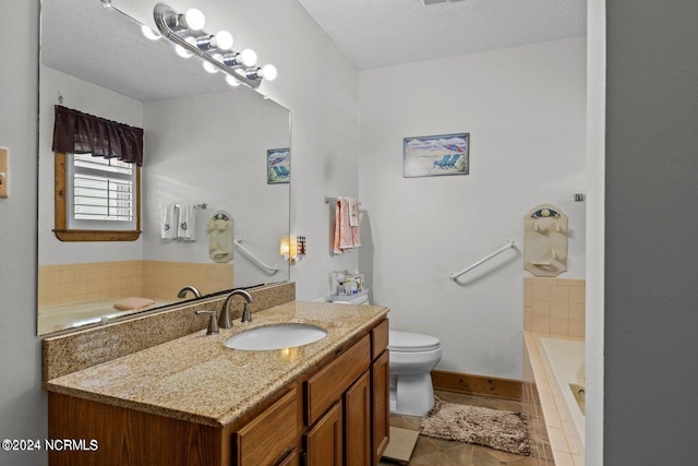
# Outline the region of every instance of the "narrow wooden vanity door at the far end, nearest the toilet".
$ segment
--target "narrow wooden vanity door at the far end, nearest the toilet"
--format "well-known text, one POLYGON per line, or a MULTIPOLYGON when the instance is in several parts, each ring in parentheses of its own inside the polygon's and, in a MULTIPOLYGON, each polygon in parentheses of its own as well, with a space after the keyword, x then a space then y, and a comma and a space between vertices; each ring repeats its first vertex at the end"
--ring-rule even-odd
POLYGON ((389 403, 390 403, 390 368, 389 353, 383 354, 371 366, 372 423, 373 423, 373 465, 377 465, 383 452, 388 446, 389 403))

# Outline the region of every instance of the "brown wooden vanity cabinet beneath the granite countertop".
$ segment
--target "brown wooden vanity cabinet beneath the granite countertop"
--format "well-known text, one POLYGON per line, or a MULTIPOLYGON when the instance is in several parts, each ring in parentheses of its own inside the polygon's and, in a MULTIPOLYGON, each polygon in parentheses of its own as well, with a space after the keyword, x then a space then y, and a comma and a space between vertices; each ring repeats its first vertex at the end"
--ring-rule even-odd
POLYGON ((388 441, 387 320, 224 428, 49 392, 50 465, 376 466, 388 441))

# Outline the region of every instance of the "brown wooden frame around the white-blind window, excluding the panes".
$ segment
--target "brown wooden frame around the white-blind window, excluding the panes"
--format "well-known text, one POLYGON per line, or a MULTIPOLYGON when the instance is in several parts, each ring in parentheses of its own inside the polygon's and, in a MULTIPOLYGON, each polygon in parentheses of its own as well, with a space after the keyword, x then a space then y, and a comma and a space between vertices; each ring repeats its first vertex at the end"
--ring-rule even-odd
POLYGON ((141 167, 135 166, 135 229, 134 230, 87 230, 68 227, 68 156, 57 152, 55 157, 53 234, 61 241, 135 241, 141 237, 141 167))

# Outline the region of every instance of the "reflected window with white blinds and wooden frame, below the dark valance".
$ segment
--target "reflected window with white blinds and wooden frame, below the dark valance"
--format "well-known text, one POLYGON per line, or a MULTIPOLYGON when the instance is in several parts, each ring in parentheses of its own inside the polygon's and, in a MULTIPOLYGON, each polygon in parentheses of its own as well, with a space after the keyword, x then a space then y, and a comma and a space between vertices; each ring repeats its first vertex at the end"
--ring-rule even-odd
POLYGON ((56 236, 133 241, 140 231, 141 169, 117 158, 56 154, 56 236))

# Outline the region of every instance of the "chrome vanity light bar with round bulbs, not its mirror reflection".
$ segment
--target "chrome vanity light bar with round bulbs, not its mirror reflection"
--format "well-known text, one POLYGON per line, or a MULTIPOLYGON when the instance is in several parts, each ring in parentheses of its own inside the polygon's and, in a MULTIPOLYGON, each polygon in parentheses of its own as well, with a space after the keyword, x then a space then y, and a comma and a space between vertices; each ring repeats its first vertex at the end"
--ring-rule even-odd
MULTIPOLYGON (((181 47, 180 50, 183 49, 185 52, 203 60, 207 71, 221 71, 227 74, 226 80, 231 85, 234 85, 232 84, 233 82, 238 82, 248 87, 257 88, 263 79, 272 81, 276 77, 276 68, 273 64, 265 64, 260 68, 245 68, 250 64, 249 62, 245 63, 246 60, 244 60, 245 57, 243 57, 243 55, 248 57, 254 55, 252 50, 243 50, 241 53, 236 53, 227 49, 219 49, 208 43, 204 46, 201 40, 202 37, 208 38, 208 40, 214 38, 213 41, 215 43, 216 36, 202 31, 204 19, 198 10, 196 10, 196 12, 198 12, 201 16, 194 14, 195 21, 188 20, 186 16, 191 15, 190 12, 191 11, 188 10, 185 14, 180 14, 165 3, 158 3, 153 10, 153 17, 155 19, 155 25, 166 39, 174 44, 174 46, 181 47), (190 25, 190 22, 195 24, 190 25), (201 46, 197 46, 197 43, 201 44, 201 46), (220 55, 221 51, 225 53, 226 59, 222 59, 224 56, 220 55), (232 60, 230 58, 238 56, 240 56, 240 60, 232 60)), ((232 43, 232 37, 230 37, 230 43, 232 43)), ((254 59, 256 60, 256 55, 254 55, 254 59)))

